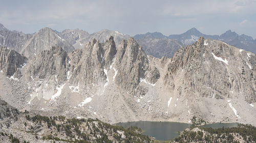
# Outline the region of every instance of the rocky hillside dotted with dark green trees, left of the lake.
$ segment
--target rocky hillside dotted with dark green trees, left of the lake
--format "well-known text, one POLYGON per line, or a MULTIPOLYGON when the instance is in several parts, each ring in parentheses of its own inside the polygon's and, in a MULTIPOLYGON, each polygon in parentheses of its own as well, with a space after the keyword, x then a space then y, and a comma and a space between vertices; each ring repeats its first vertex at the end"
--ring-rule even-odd
POLYGON ((123 128, 98 119, 67 119, 20 113, 0 100, 0 142, 152 142, 138 127, 123 128))

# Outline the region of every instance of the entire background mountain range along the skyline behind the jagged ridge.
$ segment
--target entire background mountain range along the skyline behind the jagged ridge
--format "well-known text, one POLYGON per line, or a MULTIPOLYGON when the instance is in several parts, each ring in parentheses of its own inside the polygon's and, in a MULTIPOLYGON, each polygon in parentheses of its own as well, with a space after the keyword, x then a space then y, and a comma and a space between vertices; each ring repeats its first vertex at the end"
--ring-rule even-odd
MULTIPOLYGON (((73 49, 83 48, 84 45, 92 39, 98 39, 100 42, 105 42, 110 36, 114 37, 117 45, 123 39, 128 40, 130 38, 129 35, 122 34, 118 31, 101 30, 89 34, 88 32, 79 29, 57 32, 48 27, 42 28, 35 34, 24 34, 22 32, 10 31, 4 27, 3 24, 0 24, 0 45, 23 53, 27 58, 33 57, 34 54, 38 54, 44 46, 51 47, 58 45, 64 48, 67 52, 70 52, 73 49), (49 37, 51 40, 46 39, 45 37, 49 37), (34 45, 37 48, 33 49, 32 47, 34 45)), ((238 35, 230 30, 218 36, 205 35, 199 32, 196 28, 191 28, 180 35, 164 36, 161 33, 155 32, 135 35, 133 38, 143 47, 146 54, 153 55, 156 58, 162 58, 162 56, 172 58, 174 53, 180 47, 193 44, 201 36, 220 40, 254 53, 256 52, 256 39, 253 40, 252 37, 246 35, 238 35)))

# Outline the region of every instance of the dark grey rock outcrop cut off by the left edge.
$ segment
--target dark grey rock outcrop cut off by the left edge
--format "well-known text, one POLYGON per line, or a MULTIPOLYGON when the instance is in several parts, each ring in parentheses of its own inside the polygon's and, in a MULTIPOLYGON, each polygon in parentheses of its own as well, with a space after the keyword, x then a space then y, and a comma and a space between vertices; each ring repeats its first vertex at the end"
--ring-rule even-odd
POLYGON ((14 78, 19 78, 20 69, 27 62, 27 58, 20 55, 14 50, 10 50, 7 47, 0 47, 0 69, 7 77, 13 76, 14 78))

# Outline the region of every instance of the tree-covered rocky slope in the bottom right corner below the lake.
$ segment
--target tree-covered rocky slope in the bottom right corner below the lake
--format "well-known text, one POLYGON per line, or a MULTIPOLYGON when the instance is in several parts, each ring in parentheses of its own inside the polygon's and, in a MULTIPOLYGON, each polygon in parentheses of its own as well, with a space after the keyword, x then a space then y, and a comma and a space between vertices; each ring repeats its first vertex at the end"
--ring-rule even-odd
POLYGON ((256 142, 256 127, 239 124, 232 128, 204 128, 186 129, 174 142, 256 142))

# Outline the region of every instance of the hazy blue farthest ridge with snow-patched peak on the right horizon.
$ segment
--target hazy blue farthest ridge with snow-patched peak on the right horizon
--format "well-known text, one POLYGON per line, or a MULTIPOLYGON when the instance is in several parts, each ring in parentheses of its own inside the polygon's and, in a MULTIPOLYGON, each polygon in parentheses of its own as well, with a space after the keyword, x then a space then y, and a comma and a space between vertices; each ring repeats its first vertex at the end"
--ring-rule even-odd
POLYGON ((253 40, 252 37, 244 34, 238 35, 236 32, 231 32, 231 30, 226 31, 224 34, 220 36, 206 35, 206 34, 202 34, 197 30, 197 28, 193 27, 190 30, 180 35, 165 36, 159 32, 154 32, 154 33, 138 34, 138 35, 135 35, 133 38, 136 40, 141 39, 143 37, 153 37, 153 38, 159 38, 159 39, 174 39, 182 42, 184 45, 190 45, 198 41, 199 37, 201 36, 206 39, 210 38, 214 40, 224 41, 230 45, 234 45, 238 48, 242 48, 242 49, 256 53, 256 39, 253 40))

